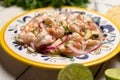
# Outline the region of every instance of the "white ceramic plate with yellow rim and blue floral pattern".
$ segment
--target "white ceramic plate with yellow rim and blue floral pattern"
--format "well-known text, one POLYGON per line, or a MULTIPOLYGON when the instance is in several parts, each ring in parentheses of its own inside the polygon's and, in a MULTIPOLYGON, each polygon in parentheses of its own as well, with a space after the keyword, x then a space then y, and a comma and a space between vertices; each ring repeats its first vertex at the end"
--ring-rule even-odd
POLYGON ((62 8, 41 8, 32 11, 25 12, 5 24, 1 31, 1 45, 7 51, 8 54, 14 58, 25 62, 27 64, 44 67, 44 68, 63 68, 65 65, 70 63, 82 63, 85 66, 92 66, 109 60, 119 52, 120 47, 120 27, 115 24, 111 19, 98 14, 94 11, 88 11, 76 7, 62 7, 62 8), (85 55, 80 55, 77 57, 60 57, 60 56, 47 56, 38 53, 28 53, 27 50, 15 42, 15 35, 19 32, 19 28, 37 16, 41 11, 67 11, 67 12, 77 12, 83 13, 86 16, 92 18, 92 20, 100 27, 105 40, 102 42, 100 48, 92 51, 85 55))

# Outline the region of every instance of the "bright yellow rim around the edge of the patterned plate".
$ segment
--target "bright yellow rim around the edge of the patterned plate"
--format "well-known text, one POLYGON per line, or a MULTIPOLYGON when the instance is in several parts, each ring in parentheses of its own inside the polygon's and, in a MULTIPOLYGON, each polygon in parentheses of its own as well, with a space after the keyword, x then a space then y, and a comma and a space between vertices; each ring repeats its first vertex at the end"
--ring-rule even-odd
MULTIPOLYGON (((51 69, 61 69, 61 68, 64 68, 65 65, 57 65, 57 64, 46 64, 46 63, 40 63, 40 62, 36 62, 36 61, 32 61, 32 60, 29 60, 29 59, 26 59, 18 54, 16 54, 14 51, 12 51, 8 46, 7 44, 5 43, 4 41, 4 32, 6 30, 6 28, 8 27, 8 25, 13 22, 15 19, 25 15, 25 14, 28 14, 28 13, 31 13, 31 12, 34 12, 34 11, 38 11, 38 10, 44 10, 44 9, 49 9, 49 8, 53 8, 53 7, 46 7, 46 8, 38 8, 38 9, 35 9, 35 10, 31 10, 31 11, 27 11, 27 12, 24 12, 22 13, 21 15, 18 15, 16 17, 14 17, 13 19, 11 19, 10 21, 8 21, 2 28, 2 30, 0 31, 0 44, 1 46, 3 47, 3 49, 9 54, 11 55, 12 57, 26 63, 26 64, 30 64, 32 66, 36 66, 36 67, 42 67, 42 68, 51 68, 51 69)), ((93 13, 96 13, 108 20, 110 20, 114 25, 116 25, 116 27, 118 28, 118 30, 120 30, 120 25, 118 23, 116 23, 114 20, 112 20, 111 18, 103 15, 103 14, 100 14, 96 11, 92 11, 92 10, 87 10, 87 9, 83 9, 83 8, 78 8, 78 7, 71 7, 71 6, 64 6, 62 8, 68 8, 68 9, 78 9, 78 10, 84 10, 84 11, 88 11, 88 12, 93 12, 93 13)), ((82 63, 84 64, 85 66, 92 66, 92 65, 97 65, 97 64, 100 64, 104 61, 107 61, 109 59, 111 59, 112 57, 114 57, 119 51, 120 51, 120 44, 117 45, 117 47, 111 52, 109 53, 108 55, 100 58, 100 59, 97 59, 97 60, 93 60, 93 61, 90 61, 90 62, 85 62, 85 63, 82 63)))

